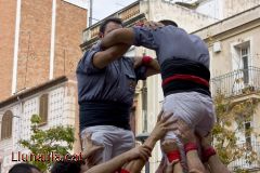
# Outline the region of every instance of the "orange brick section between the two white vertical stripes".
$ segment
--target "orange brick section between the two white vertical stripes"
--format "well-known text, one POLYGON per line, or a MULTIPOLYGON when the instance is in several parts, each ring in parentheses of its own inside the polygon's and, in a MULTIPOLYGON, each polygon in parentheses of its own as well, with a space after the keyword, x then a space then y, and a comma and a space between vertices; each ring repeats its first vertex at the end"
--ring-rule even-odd
POLYGON ((49 80, 52 0, 23 0, 17 91, 49 80))

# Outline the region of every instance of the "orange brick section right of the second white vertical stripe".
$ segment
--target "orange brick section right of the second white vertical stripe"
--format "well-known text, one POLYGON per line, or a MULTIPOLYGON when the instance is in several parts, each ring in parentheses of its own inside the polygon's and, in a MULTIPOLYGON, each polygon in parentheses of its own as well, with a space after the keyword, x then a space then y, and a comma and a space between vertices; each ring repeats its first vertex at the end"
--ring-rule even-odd
POLYGON ((87 27, 87 11, 57 0, 54 77, 75 75, 82 55, 82 30, 87 27))

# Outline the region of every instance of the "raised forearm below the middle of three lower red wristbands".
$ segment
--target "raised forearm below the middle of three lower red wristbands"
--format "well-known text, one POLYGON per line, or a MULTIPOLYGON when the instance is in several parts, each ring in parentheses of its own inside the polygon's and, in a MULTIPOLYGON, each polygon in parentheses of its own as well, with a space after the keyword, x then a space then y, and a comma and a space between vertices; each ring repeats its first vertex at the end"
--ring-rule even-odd
POLYGON ((204 164, 198 157, 197 150, 190 150, 186 154, 186 158, 187 158, 187 167, 190 171, 202 172, 202 173, 206 172, 204 164))

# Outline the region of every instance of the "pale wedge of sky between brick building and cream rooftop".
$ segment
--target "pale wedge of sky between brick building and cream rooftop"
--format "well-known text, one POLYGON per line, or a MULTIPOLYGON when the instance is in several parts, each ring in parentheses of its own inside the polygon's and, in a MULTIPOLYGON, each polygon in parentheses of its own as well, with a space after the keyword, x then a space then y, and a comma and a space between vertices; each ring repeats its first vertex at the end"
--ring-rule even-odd
MULTIPOLYGON (((93 17, 102 19, 136 0, 93 0, 93 17)), ((92 23, 98 21, 92 19, 92 23)))

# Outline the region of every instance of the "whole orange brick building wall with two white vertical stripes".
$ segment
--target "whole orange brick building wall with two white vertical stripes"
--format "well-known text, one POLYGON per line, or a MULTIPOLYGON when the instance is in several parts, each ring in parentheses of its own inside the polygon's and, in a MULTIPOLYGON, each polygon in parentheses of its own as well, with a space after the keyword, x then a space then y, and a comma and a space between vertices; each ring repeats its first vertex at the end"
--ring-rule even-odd
POLYGON ((87 0, 0 0, 0 101, 75 72, 87 0))

